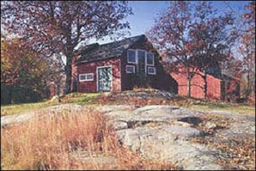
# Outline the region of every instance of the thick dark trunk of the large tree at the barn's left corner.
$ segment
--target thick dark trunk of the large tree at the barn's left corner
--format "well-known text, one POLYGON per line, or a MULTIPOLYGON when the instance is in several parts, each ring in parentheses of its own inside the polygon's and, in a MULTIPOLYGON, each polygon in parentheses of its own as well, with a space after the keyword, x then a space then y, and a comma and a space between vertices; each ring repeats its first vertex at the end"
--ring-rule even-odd
POLYGON ((67 64, 65 66, 65 94, 71 92, 71 82, 72 82, 72 56, 67 56, 67 64))

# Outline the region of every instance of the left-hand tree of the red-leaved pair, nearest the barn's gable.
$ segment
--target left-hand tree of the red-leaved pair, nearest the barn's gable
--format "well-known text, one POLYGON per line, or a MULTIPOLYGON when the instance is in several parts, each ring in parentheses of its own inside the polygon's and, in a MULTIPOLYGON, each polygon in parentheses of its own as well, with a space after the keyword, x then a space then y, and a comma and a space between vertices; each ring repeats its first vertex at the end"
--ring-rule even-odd
POLYGON ((191 79, 196 70, 189 59, 191 40, 188 30, 193 20, 190 8, 190 1, 170 2, 168 10, 156 19, 156 24, 147 33, 151 41, 163 49, 163 60, 169 64, 165 67, 167 71, 188 74, 188 97, 191 97, 191 79))

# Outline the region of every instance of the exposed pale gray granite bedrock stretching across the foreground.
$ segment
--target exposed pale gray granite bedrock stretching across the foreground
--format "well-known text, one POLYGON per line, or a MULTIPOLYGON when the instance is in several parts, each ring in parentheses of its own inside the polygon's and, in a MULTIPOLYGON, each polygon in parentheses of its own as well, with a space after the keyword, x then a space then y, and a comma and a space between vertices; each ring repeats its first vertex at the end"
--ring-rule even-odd
MULTIPOLYGON (((143 97, 145 94, 137 94, 143 97)), ((234 122, 229 129, 218 134, 223 138, 232 136, 255 136, 255 116, 245 116, 231 112, 202 112, 183 109, 177 106, 79 106, 65 104, 42 109, 47 114, 62 110, 95 109, 106 114, 108 124, 117 131, 119 141, 144 158, 165 160, 178 164, 182 170, 222 170, 214 161, 221 155, 215 149, 208 149, 199 143, 191 143, 189 138, 200 136, 201 132, 193 126, 202 123, 199 114, 219 114, 231 117, 234 122)), ((27 112, 1 117, 1 126, 22 123, 36 114, 27 112)), ((207 122, 207 129, 214 129, 215 123, 207 122)), ((80 154, 83 159, 88 155, 80 154)), ((103 155, 93 157, 98 164, 115 163, 115 157, 103 155)))

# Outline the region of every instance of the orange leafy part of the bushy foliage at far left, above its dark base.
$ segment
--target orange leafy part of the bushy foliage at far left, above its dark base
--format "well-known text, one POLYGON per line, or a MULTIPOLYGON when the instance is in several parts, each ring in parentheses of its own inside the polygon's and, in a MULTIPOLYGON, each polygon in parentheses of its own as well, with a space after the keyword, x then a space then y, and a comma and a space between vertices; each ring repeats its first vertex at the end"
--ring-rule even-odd
POLYGON ((42 77, 46 67, 46 62, 37 58, 33 51, 22 47, 19 39, 2 39, 1 83, 13 84, 18 78, 27 84, 27 79, 42 77))

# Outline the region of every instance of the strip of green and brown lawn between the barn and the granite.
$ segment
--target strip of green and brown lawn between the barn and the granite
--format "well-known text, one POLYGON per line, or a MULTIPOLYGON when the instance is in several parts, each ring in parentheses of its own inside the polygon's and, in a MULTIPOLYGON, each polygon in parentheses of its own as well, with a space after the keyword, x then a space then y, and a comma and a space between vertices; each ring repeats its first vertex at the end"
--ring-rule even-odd
MULTIPOLYGON (((99 93, 71 93, 62 97, 62 103, 75 103, 79 105, 175 105, 187 109, 196 110, 220 110, 226 112, 237 112, 240 114, 255 114, 255 106, 249 106, 246 103, 226 103, 220 100, 198 100, 188 99, 187 97, 167 98, 151 91, 125 91, 122 95, 119 93, 99 94, 99 93), (136 93, 143 92, 143 96, 136 93)), ((41 103, 25 103, 17 105, 1 106, 1 115, 19 114, 34 109, 42 109, 47 106, 53 106, 57 100, 48 100, 41 103)))

